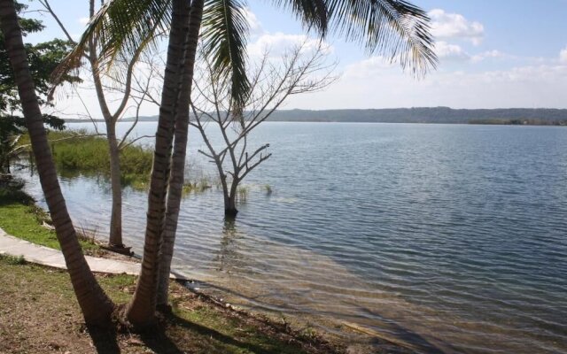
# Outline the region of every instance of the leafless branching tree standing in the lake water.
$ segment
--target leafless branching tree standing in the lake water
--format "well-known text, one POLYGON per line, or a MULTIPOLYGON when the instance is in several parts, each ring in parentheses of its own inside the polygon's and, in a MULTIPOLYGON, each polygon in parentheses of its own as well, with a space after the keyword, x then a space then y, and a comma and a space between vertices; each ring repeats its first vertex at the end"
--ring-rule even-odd
POLYGON ((208 150, 198 150, 217 167, 224 195, 225 216, 237 215, 237 187, 258 165, 272 156, 269 143, 251 149, 252 130, 279 108, 291 95, 315 92, 336 80, 336 63, 327 62, 329 48, 322 42, 315 46, 305 41, 288 50, 282 58, 270 58, 266 52, 249 73, 251 90, 242 107, 235 107, 230 85, 219 81, 213 65, 202 58, 201 77, 195 81, 191 99, 193 119, 208 150), (214 147, 206 127, 214 124, 222 136, 222 147, 214 147))

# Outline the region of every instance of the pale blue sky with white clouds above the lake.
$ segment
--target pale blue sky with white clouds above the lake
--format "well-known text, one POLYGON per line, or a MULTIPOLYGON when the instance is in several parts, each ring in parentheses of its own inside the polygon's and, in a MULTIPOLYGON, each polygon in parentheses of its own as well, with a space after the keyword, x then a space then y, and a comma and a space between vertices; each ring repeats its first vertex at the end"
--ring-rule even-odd
MULTIPOLYGON (((78 38, 88 21, 88 2, 50 0, 78 38), (73 4, 73 5, 70 5, 73 4)), ((253 58, 263 48, 271 53, 305 40, 306 31, 275 1, 248 1, 248 50, 253 58)), ((567 0, 416 0, 428 12, 439 65, 423 78, 403 71, 381 53, 366 53, 360 45, 339 36, 326 38, 329 61, 338 61, 338 80, 321 92, 291 97, 283 109, 365 109, 396 107, 452 108, 567 108, 567 0)), ((37 8, 30 3, 30 9, 37 8)), ((46 30, 29 42, 61 37, 49 15, 46 30)), ((315 39, 314 39, 315 40, 315 39)), ((81 110, 71 95, 59 95, 68 112, 81 110)), ((96 104, 85 91, 87 105, 96 104)), ((144 115, 157 114, 155 106, 144 115)), ((99 116, 96 109, 91 109, 99 116)), ((71 113, 73 114, 73 113, 71 113)))

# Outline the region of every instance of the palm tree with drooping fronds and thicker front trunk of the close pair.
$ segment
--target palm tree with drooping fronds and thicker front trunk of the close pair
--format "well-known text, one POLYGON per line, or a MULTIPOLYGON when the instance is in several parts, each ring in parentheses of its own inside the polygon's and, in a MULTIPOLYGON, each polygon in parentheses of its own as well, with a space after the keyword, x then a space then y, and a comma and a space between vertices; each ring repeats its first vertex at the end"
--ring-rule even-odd
MULTIPOLYGON (((423 10, 407 1, 274 0, 274 3, 291 10, 309 30, 322 37, 329 32, 338 33, 349 41, 361 43, 369 53, 378 51, 399 61, 417 75, 436 64, 429 18, 423 10)), ((179 144, 175 148, 175 161, 179 162, 182 157, 184 160, 187 134, 182 121, 189 117, 186 94, 190 86, 183 85, 183 81, 192 80, 196 51, 192 47, 197 46, 202 27, 200 39, 206 55, 213 62, 215 76, 231 86, 233 106, 240 107, 249 89, 245 75, 247 24, 244 10, 242 0, 193 0, 190 5, 187 0, 112 0, 91 19, 82 40, 58 71, 59 74, 66 73, 80 64, 90 38, 97 38, 99 64, 104 67, 112 65, 114 58, 132 58, 140 46, 152 43, 156 31, 171 28, 148 196, 143 266, 127 311, 128 319, 135 325, 144 326, 153 320, 159 254, 173 253, 171 238, 163 241, 165 235, 175 237, 176 214, 181 200, 181 191, 176 185, 180 181, 179 173, 183 174, 183 170, 179 170, 183 164, 173 162, 172 166, 171 151, 175 134, 175 144, 179 144), (169 8, 172 8, 171 12, 169 8), (203 13, 202 22, 200 12, 203 13), (173 170, 171 175, 170 169, 173 170)), ((168 266, 171 258, 165 259, 168 266)), ((167 275, 162 272, 162 276, 167 275)), ((161 289, 167 291, 167 287, 161 289)))

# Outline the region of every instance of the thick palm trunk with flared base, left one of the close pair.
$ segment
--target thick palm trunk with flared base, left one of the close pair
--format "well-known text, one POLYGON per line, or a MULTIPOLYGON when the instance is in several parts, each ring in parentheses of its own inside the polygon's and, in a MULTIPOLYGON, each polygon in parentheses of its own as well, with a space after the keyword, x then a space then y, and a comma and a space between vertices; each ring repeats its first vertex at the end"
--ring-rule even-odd
POLYGON ((126 316, 136 327, 146 327, 155 320, 159 246, 165 225, 167 185, 171 168, 171 150, 174 134, 176 104, 183 78, 184 44, 189 32, 190 4, 186 0, 173 1, 173 14, 167 63, 164 75, 158 131, 151 169, 148 193, 147 224, 144 240, 142 270, 136 291, 128 304, 126 316))

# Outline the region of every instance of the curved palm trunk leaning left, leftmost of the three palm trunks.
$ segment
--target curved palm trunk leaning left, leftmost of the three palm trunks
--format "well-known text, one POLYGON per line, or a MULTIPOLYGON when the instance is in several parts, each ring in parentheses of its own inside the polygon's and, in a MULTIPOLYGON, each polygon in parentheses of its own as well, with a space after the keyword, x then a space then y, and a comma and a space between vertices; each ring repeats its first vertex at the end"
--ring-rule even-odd
POLYGON ((61 245, 66 266, 71 276, 75 295, 85 321, 89 325, 103 325, 110 319, 113 303, 99 287, 97 280, 90 272, 73 223, 67 212, 65 199, 59 188, 55 165, 51 158, 47 135, 43 127, 42 112, 39 108, 37 96, 35 96, 34 81, 29 73, 27 54, 12 0, 0 0, 0 23, 4 32, 6 50, 12 62, 16 84, 18 85, 22 110, 26 117, 37 173, 58 242, 61 245))

